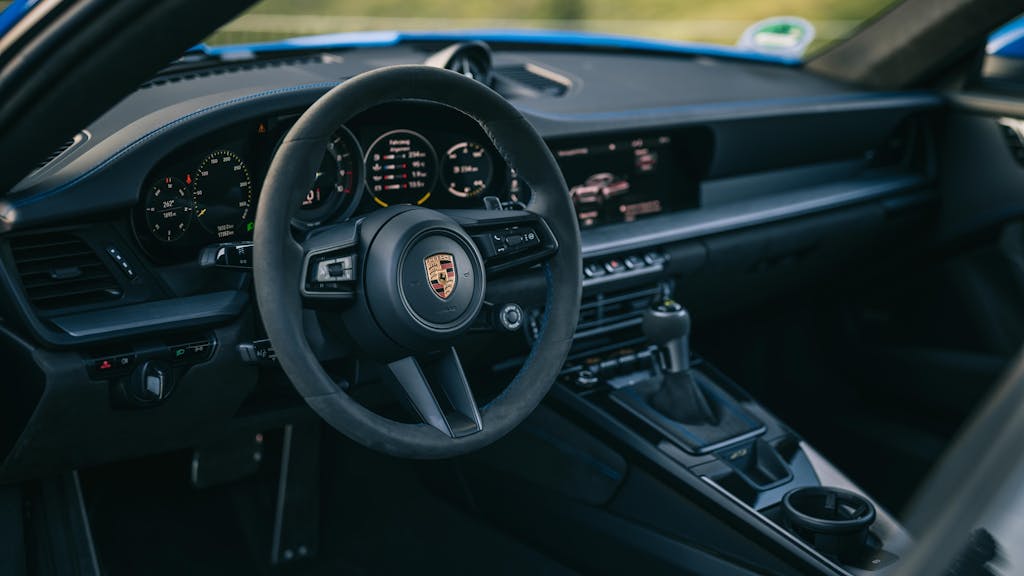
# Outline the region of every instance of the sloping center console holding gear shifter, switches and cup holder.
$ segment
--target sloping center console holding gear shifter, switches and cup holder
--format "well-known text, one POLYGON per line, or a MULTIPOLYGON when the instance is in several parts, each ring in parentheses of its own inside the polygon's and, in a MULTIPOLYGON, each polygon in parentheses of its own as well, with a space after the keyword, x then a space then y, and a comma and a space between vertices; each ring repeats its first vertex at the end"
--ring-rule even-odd
MULTIPOLYGON (((667 457, 742 522, 837 574, 885 574, 908 536, 784 422, 689 347, 671 283, 585 302, 630 312, 578 339, 556 395, 667 457), (617 298, 617 301, 616 301, 617 298)), ((606 428, 607 429, 607 428, 606 428)), ((672 466, 675 468, 676 466, 672 466)))

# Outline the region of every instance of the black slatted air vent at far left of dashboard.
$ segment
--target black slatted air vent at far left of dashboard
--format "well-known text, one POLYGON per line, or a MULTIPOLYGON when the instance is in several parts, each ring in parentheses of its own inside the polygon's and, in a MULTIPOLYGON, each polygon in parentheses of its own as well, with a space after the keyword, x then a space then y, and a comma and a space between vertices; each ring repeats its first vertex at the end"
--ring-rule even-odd
POLYGON ((96 304, 121 297, 121 286, 99 255, 67 233, 11 239, 14 264, 29 301, 51 311, 96 304))

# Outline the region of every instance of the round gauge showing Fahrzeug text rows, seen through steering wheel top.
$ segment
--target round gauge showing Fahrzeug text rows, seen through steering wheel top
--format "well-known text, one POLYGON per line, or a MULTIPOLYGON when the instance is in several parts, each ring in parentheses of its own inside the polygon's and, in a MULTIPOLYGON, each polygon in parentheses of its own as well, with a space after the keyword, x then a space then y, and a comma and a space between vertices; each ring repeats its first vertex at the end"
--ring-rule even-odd
POLYGON ((381 134, 367 151, 367 190, 381 206, 423 204, 437 177, 430 142, 412 130, 381 134))

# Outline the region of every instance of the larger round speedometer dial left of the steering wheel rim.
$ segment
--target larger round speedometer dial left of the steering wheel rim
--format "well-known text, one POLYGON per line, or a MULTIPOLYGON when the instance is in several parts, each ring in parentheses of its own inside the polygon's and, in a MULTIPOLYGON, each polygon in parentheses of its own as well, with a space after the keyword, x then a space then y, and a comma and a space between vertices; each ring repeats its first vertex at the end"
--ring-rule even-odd
POLYGON ((196 171, 196 219, 217 238, 234 237, 249 219, 252 189, 249 168, 238 155, 227 150, 214 152, 196 171))

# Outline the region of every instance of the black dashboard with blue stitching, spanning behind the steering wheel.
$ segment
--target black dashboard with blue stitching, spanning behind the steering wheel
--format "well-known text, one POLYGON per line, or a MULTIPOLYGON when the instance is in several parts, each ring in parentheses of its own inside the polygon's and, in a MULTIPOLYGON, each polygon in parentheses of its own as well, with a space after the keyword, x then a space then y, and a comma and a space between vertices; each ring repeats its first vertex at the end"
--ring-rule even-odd
MULTIPOLYGON (((328 51, 158 78, 0 200, 0 341, 25 364, 14 381, 47 388, 20 412, 25 421, 39 416, 18 441, 26 457, 7 458, 0 477, 183 445, 204 426, 278 409, 287 382, 270 360, 251 271, 205 266, 199 256, 252 238, 274 152, 316 98, 339 79, 422 63, 439 47, 328 51), (112 405, 124 373, 108 370, 143 361, 171 366, 174 396, 145 410, 112 405), (74 446, 69 422, 82 431, 74 446)), ((572 196, 585 273, 578 334, 591 339, 608 323, 635 322, 635 302, 672 283, 688 305, 714 314, 809 282, 888 242, 894 233, 884 227, 910 225, 930 202, 927 162, 910 146, 927 141, 914 126, 927 127, 942 106, 930 94, 865 93, 795 68, 639 52, 505 46, 495 73, 572 196), (507 89, 524 75, 543 90, 507 89), (564 90, 548 91, 550 78, 564 90)), ((391 204, 528 205, 537 192, 480 126, 444 107, 379 106, 335 129, 308 188, 295 191, 297 236, 391 204)), ((474 343, 513 358, 544 286, 540 272, 488 278, 488 299, 523 306, 525 335, 474 333, 474 343)), ((352 377, 345 349, 323 352, 339 378, 352 377)), ((476 357, 497 362, 466 358, 476 357)), ((23 401, 7 392, 0 407, 23 401)), ((0 456, 13 442, 0 429, 0 456)))

